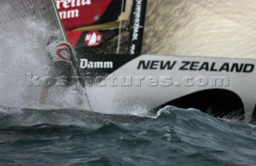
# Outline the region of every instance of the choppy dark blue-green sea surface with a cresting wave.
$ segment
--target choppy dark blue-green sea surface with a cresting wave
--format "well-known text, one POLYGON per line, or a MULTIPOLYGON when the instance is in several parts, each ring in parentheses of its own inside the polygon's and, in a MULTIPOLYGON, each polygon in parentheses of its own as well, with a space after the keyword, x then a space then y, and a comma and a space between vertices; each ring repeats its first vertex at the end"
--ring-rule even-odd
POLYGON ((256 123, 173 106, 130 124, 0 111, 0 165, 256 165, 255 145, 256 123))

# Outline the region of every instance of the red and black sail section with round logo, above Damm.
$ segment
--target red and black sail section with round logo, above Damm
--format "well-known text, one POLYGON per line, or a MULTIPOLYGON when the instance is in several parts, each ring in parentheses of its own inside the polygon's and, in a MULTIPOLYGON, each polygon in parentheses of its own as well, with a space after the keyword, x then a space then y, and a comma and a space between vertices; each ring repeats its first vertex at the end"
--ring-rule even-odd
POLYGON ((78 54, 113 54, 126 52, 133 1, 131 0, 55 0, 69 42, 78 54), (84 2, 84 3, 82 3, 84 2))

